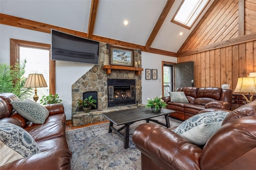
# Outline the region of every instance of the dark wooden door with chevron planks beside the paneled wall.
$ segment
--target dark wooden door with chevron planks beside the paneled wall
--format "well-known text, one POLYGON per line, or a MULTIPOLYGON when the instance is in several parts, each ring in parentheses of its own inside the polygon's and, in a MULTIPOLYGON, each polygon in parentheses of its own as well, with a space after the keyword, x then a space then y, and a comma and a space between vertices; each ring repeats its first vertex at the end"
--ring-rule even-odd
POLYGON ((174 65, 175 89, 194 86, 194 61, 174 65))

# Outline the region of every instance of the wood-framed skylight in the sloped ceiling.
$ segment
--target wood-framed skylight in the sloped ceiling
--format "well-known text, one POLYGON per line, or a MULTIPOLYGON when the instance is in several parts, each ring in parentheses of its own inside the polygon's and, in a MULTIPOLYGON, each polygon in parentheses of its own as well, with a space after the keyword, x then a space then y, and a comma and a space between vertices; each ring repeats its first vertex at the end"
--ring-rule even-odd
POLYGON ((172 22, 190 29, 209 0, 182 0, 172 22))

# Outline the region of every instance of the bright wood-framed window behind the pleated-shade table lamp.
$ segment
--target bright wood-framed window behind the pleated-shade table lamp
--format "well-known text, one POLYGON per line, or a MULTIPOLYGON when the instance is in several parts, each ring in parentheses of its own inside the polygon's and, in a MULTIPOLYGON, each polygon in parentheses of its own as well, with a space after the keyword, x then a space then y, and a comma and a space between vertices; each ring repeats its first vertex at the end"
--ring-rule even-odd
MULTIPOLYGON (((10 65, 14 65, 22 59, 27 60, 26 73, 28 76, 35 71, 43 74, 48 87, 42 88, 42 94, 38 88, 38 96, 55 94, 55 61, 50 59, 50 44, 10 39, 10 65), (42 59, 44 57, 44 59, 42 59), (37 64, 37 65, 36 65, 37 64)), ((32 95, 34 96, 34 94, 32 95)), ((40 100, 40 99, 39 99, 40 100)))

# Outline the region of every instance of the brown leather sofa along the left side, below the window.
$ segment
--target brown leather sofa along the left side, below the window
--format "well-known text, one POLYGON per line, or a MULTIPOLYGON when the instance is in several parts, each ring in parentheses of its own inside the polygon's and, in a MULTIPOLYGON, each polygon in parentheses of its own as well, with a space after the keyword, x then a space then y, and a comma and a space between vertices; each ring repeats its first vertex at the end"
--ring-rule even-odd
POLYGON ((0 93, 0 121, 24 128, 36 141, 41 152, 0 166, 0 170, 69 170, 72 152, 68 149, 65 137, 66 116, 63 105, 45 105, 49 116, 44 124, 34 124, 13 109, 10 104, 12 101, 20 99, 12 93, 0 93))

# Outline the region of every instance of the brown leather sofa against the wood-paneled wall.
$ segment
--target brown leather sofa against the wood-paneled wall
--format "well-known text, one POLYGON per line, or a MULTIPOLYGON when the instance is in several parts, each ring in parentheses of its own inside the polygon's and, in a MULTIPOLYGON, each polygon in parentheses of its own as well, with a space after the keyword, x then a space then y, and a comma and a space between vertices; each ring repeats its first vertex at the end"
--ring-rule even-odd
POLYGON ((170 117, 176 119, 186 120, 206 108, 231 110, 232 90, 230 89, 183 87, 178 88, 176 92, 184 92, 189 103, 170 102, 170 96, 162 97, 168 104, 166 108, 176 111, 170 114, 170 117))

